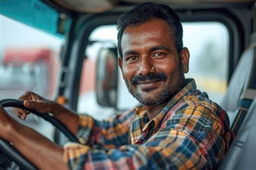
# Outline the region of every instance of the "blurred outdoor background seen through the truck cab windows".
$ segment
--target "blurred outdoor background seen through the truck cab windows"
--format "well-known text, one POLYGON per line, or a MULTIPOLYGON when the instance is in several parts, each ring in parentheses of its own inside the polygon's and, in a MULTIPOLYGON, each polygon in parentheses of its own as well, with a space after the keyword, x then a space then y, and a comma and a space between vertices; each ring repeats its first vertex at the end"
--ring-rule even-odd
MULTIPOLYGON (((228 30, 219 22, 183 23, 184 46, 190 50, 190 71, 186 78, 196 79, 198 89, 219 103, 227 86, 229 49, 228 30)), ((97 55, 102 47, 117 44, 116 25, 100 26, 91 35, 80 80, 78 113, 105 119, 114 108, 100 106, 95 95, 97 55)), ((60 66, 60 49, 65 37, 31 28, 0 15, 0 99, 18 98, 25 91, 55 99, 60 66)), ((137 104, 118 74, 117 108, 122 111, 137 104)), ((12 112, 12 108, 8 108, 12 112)), ((22 121, 52 139, 53 127, 33 115, 22 121), (43 128, 42 128, 43 127, 43 128)))

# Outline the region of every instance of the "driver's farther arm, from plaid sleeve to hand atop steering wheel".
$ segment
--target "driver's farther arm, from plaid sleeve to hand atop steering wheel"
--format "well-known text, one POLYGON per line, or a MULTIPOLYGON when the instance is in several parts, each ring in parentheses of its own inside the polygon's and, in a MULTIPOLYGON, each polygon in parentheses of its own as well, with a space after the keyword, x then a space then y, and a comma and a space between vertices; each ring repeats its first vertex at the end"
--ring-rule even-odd
MULTIPOLYGON (((104 147, 129 144, 128 133, 132 111, 127 111, 110 120, 97 121, 86 114, 77 115, 55 101, 45 99, 33 92, 26 92, 19 99, 24 101, 23 105, 27 108, 33 108, 42 113, 52 113, 53 117, 60 120, 73 134, 77 135, 82 144, 104 147), (120 133, 123 133, 121 140, 120 133)), ((15 108, 15 113, 23 120, 29 114, 28 111, 20 108, 15 108)))

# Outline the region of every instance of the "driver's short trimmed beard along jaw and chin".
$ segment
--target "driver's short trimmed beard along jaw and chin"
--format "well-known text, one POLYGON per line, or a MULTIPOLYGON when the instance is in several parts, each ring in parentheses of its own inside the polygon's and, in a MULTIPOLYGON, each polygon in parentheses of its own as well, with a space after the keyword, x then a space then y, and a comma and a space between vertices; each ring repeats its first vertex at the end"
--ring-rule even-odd
MULTIPOLYGON (((138 84, 137 83, 138 81, 153 80, 153 79, 164 81, 164 85, 160 87, 161 88, 160 91, 154 93, 153 95, 146 95, 146 94, 140 93, 137 88, 133 90, 129 84, 129 81, 126 78, 124 78, 124 80, 125 80, 127 89, 132 94, 132 96, 139 101, 139 103, 143 105, 153 106, 153 105, 159 105, 165 102, 166 100, 173 98, 181 89, 183 89, 183 87, 185 87, 186 80, 185 80, 183 71, 181 69, 181 64, 179 64, 178 69, 172 75, 169 75, 169 76, 170 76, 169 82, 167 82, 167 75, 163 72, 149 74, 146 76, 142 76, 142 75, 134 76, 131 79, 131 84, 133 86, 136 86, 138 84)), ((153 93, 154 89, 145 89, 143 91, 153 93)))

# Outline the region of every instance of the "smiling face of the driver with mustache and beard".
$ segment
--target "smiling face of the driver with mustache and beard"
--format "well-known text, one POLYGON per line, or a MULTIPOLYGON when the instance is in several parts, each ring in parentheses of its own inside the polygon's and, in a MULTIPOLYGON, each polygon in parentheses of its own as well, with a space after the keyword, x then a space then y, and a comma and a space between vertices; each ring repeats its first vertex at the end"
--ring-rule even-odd
POLYGON ((119 66, 126 86, 143 105, 159 105, 185 86, 184 59, 180 59, 170 26, 163 19, 128 26, 121 47, 119 66))

